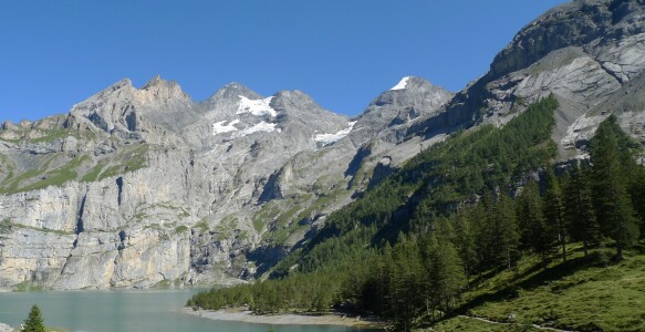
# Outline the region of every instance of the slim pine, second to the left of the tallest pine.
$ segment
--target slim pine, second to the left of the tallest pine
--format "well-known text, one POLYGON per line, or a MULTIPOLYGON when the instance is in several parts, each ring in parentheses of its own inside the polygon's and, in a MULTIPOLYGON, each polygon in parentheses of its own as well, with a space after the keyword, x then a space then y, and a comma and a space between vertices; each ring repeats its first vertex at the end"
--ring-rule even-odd
POLYGON ((553 168, 547 166, 547 190, 544 193, 544 218, 549 227, 556 228, 558 242, 562 248, 562 261, 566 261, 566 234, 564 227, 564 204, 560 183, 553 168))

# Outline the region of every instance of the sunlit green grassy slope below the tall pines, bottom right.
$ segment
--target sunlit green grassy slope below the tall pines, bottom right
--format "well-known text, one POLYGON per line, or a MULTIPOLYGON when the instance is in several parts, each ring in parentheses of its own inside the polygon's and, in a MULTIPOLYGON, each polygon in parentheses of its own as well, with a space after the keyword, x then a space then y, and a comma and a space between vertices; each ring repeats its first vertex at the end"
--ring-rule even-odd
POLYGON ((524 331, 538 324, 574 331, 645 331, 645 248, 630 250, 614 263, 608 249, 584 258, 580 243, 569 245, 568 262, 543 268, 535 256, 516 269, 475 278, 454 315, 435 331, 524 331), (461 315, 507 323, 496 325, 461 315))

